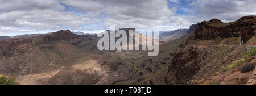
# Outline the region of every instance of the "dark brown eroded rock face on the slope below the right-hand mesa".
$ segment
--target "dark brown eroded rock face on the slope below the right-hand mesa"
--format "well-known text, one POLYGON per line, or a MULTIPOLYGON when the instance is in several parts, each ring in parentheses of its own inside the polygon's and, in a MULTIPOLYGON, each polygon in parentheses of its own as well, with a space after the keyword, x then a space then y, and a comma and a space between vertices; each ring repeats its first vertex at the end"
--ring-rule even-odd
POLYGON ((172 58, 172 64, 168 67, 167 84, 187 84, 200 69, 202 60, 205 60, 207 54, 199 48, 188 47, 182 49, 172 58))

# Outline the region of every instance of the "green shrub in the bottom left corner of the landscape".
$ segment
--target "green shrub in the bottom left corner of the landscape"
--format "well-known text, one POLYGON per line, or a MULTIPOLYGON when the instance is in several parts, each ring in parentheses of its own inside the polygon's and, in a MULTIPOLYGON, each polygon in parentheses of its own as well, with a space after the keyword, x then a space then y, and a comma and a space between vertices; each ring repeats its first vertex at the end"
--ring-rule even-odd
POLYGON ((19 84, 15 81, 15 78, 6 77, 0 74, 0 85, 16 85, 19 84))

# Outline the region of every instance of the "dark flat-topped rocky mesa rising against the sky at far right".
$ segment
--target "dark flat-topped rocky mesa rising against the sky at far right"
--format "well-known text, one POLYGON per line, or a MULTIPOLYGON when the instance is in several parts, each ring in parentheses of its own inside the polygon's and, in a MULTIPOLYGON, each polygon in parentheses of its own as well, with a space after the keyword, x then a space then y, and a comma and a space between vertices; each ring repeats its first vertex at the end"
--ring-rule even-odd
POLYGON ((216 37, 241 37, 245 44, 255 35, 256 16, 245 16, 235 22, 222 23, 221 20, 212 19, 208 22, 198 23, 195 39, 210 40, 216 37))

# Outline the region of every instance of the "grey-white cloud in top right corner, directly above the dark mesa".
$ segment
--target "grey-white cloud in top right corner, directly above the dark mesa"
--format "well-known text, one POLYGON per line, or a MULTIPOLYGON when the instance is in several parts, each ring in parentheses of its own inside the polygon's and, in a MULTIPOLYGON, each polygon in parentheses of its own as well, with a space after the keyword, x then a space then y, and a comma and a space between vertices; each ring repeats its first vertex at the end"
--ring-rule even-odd
POLYGON ((196 8, 198 18, 217 18, 224 22, 237 20, 242 16, 256 15, 254 0, 197 0, 191 6, 196 8))

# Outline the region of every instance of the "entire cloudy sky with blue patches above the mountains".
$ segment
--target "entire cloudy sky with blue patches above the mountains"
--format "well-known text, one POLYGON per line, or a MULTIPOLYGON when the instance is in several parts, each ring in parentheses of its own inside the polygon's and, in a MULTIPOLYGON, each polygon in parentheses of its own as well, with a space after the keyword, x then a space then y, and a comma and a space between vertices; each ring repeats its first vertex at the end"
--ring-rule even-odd
POLYGON ((256 15, 254 0, 0 0, 0 36, 102 32, 110 26, 172 31, 256 15))

